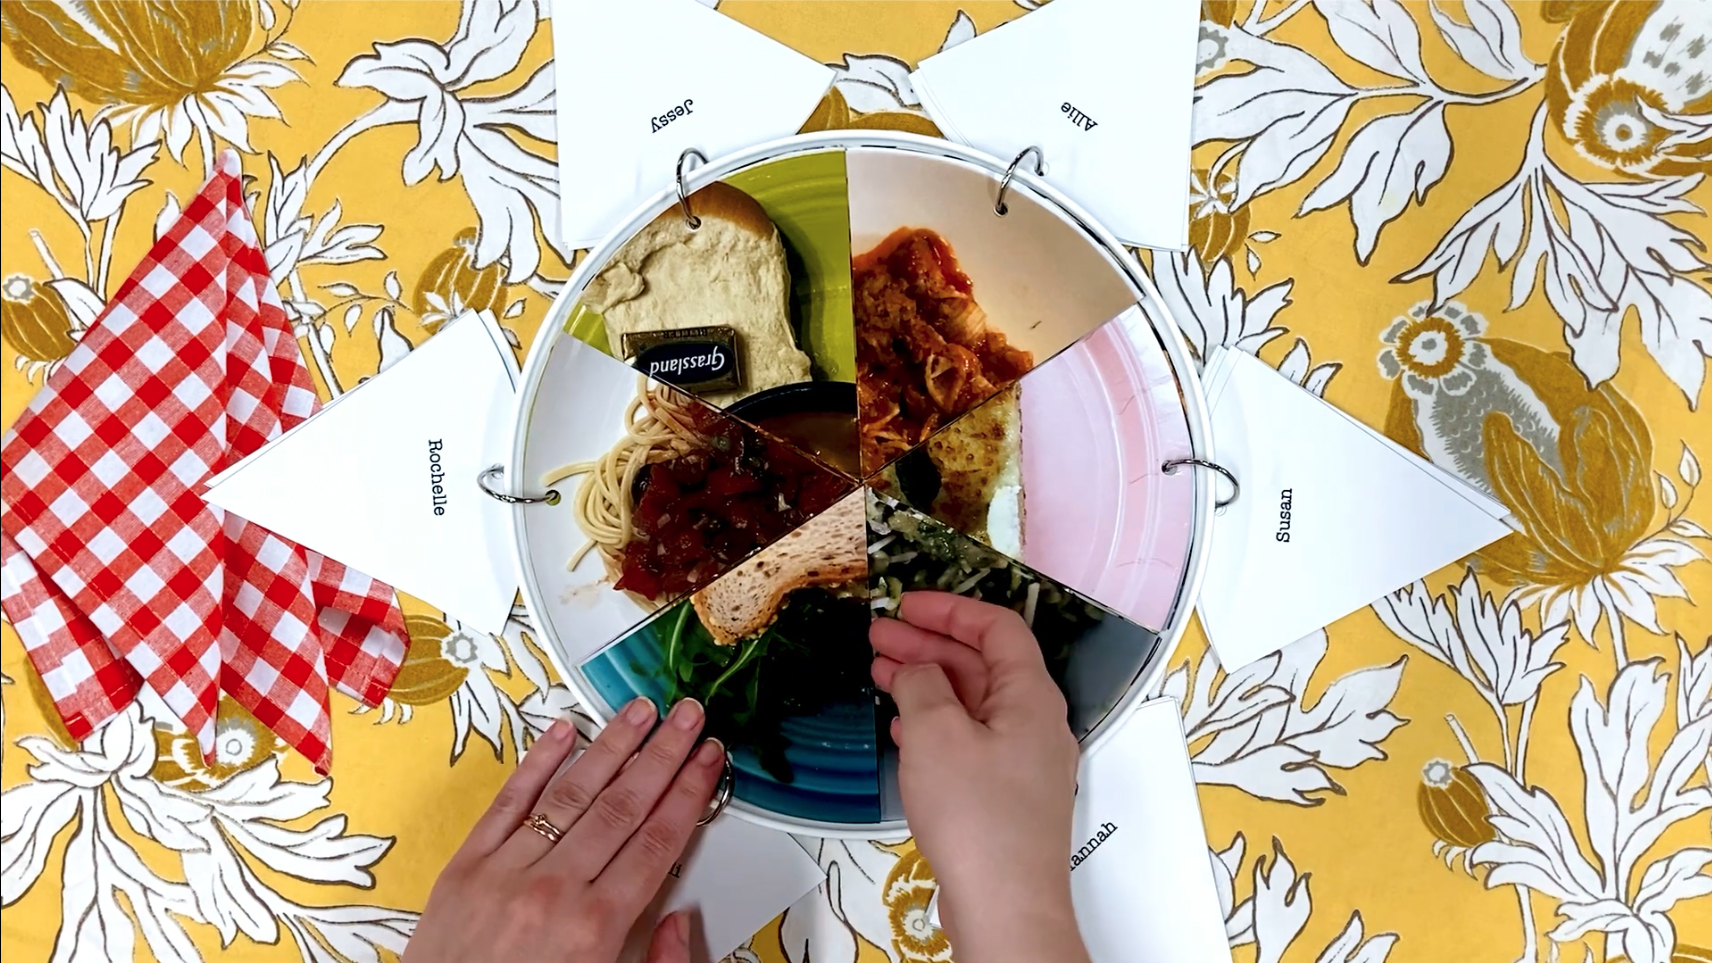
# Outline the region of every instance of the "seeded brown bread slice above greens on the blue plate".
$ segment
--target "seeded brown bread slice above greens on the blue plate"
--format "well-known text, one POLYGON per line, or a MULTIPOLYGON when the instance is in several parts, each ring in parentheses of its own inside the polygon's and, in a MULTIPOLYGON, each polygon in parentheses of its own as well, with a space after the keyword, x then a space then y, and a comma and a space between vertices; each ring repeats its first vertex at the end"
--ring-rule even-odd
POLYGON ((834 588, 868 579, 868 523, 861 488, 750 555, 692 596, 714 641, 729 646, 772 625, 800 588, 834 588))

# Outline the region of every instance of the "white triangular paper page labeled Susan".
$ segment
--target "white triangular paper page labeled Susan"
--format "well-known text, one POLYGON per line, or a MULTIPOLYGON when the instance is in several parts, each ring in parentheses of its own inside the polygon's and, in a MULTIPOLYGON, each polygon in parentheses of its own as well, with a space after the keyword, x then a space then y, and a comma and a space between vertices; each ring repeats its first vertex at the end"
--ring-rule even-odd
POLYGON ((1202 375, 1214 459, 1241 497, 1214 517, 1200 612, 1238 668, 1510 533, 1501 502, 1245 351, 1202 375))

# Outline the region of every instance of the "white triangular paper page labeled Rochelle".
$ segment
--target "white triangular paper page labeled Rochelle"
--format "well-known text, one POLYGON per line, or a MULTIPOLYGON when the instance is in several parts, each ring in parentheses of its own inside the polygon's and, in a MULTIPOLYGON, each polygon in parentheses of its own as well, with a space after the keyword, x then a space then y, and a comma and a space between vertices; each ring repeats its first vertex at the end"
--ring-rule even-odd
POLYGON ((209 482, 236 512, 484 632, 517 595, 507 507, 476 485, 508 444, 517 362, 466 314, 209 482))

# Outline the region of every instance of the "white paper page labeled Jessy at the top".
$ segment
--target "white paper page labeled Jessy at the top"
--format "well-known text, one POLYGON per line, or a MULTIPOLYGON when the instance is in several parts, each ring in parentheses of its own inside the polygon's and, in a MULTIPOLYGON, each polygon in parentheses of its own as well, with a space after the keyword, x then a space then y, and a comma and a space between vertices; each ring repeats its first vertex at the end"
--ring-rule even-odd
POLYGON ((553 72, 567 250, 671 187, 685 149, 796 134, 832 86, 825 63, 695 0, 553 0, 553 72))

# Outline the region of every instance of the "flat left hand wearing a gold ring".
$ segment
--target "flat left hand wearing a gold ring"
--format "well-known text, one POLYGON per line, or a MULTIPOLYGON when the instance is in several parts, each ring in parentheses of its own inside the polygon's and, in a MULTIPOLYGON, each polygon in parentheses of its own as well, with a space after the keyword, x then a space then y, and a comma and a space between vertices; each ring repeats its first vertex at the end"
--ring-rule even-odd
MULTIPOLYGON (((698 703, 649 737, 656 718, 647 699, 630 703, 563 771, 577 728, 562 720, 538 739, 435 882, 406 963, 616 960, 724 769, 717 740, 695 745, 698 703)), ((688 937, 688 917, 666 917, 649 963, 687 961, 688 937)))

